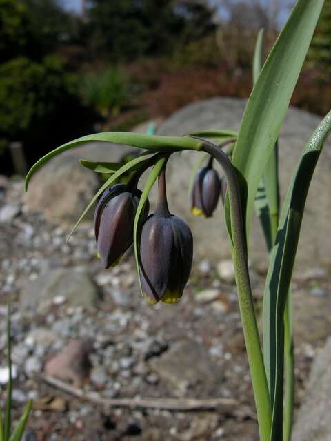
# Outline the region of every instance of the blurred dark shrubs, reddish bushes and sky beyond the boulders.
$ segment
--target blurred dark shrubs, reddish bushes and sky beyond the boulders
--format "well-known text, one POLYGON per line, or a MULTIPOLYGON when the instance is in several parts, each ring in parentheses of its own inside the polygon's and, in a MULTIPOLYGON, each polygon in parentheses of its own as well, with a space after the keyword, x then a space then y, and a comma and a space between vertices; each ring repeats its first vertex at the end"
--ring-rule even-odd
MULTIPOLYGON (((293 3, 0 0, 0 173, 14 172, 15 147, 30 166, 83 134, 130 130, 212 96, 248 97, 257 32, 265 28, 268 52, 293 3)), ((292 99, 321 115, 331 101, 330 3, 292 99)))

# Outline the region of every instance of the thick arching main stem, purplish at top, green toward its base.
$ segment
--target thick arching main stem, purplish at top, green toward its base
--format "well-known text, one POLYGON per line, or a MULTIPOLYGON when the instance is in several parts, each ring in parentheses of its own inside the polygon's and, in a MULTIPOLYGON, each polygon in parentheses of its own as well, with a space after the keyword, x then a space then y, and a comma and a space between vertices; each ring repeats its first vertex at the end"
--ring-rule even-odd
POLYGON ((236 285, 239 299, 239 309, 243 324, 243 335, 250 365, 250 374, 257 407, 257 420, 261 441, 269 441, 272 411, 268 390, 267 377, 263 363, 261 342, 257 329, 257 320, 252 301, 250 276, 248 273, 248 260, 246 240, 244 234, 243 213, 241 209, 240 193, 237 183, 237 174, 227 154, 216 145, 204 141, 203 150, 208 152, 219 162, 228 182, 230 199, 232 258, 234 261, 236 285))

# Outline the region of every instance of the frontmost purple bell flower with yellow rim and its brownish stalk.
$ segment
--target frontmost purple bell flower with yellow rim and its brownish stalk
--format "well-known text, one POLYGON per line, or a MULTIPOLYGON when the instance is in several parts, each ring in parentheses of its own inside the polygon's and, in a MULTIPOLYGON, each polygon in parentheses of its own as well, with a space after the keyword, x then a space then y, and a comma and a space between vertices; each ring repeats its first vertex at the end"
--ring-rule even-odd
POLYGON ((190 228, 168 210, 163 170, 158 207, 141 229, 141 285, 148 303, 176 303, 181 298, 190 276, 192 255, 190 228))

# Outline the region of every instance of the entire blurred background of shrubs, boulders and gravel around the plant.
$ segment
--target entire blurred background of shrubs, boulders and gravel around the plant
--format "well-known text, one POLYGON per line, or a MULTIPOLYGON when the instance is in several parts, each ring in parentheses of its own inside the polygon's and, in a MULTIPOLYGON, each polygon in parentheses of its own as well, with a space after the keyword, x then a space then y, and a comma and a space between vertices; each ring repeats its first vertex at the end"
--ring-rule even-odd
MULTIPOLYGON (((116 267, 101 267, 92 222, 66 242, 105 178, 84 170, 79 158, 123 161, 132 149, 94 142, 70 150, 42 167, 24 195, 23 175, 41 155, 92 132, 145 132, 151 121, 159 134, 237 130, 252 89, 257 32, 265 29, 266 57, 293 3, 0 0, 0 409, 9 299, 13 421, 28 398, 34 402, 24 441, 259 439, 223 206, 208 220, 190 213, 188 182, 199 154, 173 155, 167 167, 170 210, 194 235, 192 273, 175 307, 141 300, 130 253, 116 267), (159 408, 137 408, 139 397, 159 408), (129 407, 109 404, 122 398, 129 407), (174 399, 175 410, 163 409, 159 398, 174 399), (177 399, 191 398, 219 398, 219 408, 176 409, 177 399)), ((300 109, 290 108, 279 136, 282 200, 303 146, 330 110, 330 79, 325 0, 292 97, 300 109)), ((330 141, 322 155, 292 281, 296 412, 318 349, 331 336, 330 141)), ((250 275, 258 316, 267 262, 255 219, 250 275)), ((318 367, 312 382, 316 402, 301 419, 298 413, 304 433, 295 441, 330 440, 317 437, 331 414, 328 347, 326 354, 325 375, 318 367)))

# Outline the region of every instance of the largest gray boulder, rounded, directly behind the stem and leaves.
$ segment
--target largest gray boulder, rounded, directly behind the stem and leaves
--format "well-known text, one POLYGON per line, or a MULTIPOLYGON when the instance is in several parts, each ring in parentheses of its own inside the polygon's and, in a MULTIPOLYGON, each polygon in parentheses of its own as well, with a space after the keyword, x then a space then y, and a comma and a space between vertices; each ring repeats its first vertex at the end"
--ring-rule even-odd
MULTIPOLYGON (((246 101, 234 98, 212 98, 186 105, 164 121, 157 134, 183 135, 199 130, 238 130, 246 101)), ((292 174, 305 144, 321 122, 321 117, 290 107, 279 136, 279 173, 281 201, 290 184, 292 174)), ((297 268, 331 263, 331 139, 325 143, 323 152, 312 178, 306 203, 299 248, 297 268)), ((199 156, 192 152, 172 155, 167 167, 168 202, 173 214, 180 216, 192 229, 194 236, 194 257, 208 258, 212 263, 230 258, 231 249, 223 220, 223 206, 219 203, 210 219, 196 218, 190 214, 188 182, 194 163, 199 156), (179 189, 181 191, 179 191, 179 189)), ((259 220, 253 216, 250 240, 252 265, 265 263, 267 252, 259 220)))

